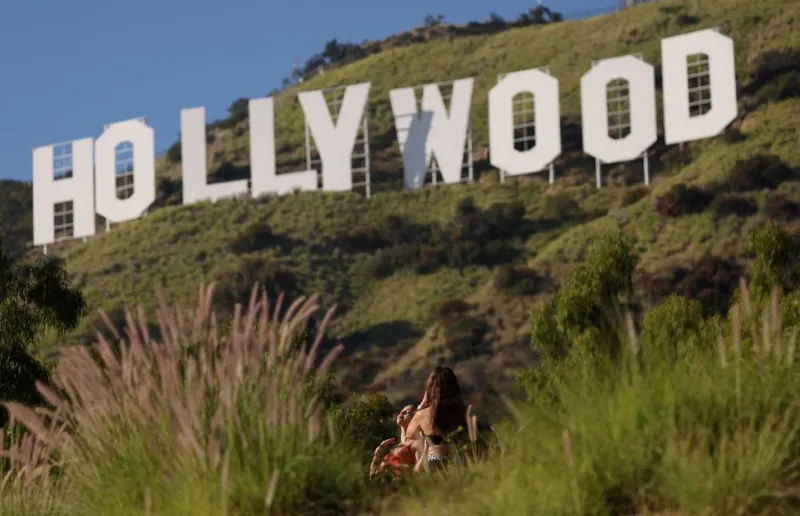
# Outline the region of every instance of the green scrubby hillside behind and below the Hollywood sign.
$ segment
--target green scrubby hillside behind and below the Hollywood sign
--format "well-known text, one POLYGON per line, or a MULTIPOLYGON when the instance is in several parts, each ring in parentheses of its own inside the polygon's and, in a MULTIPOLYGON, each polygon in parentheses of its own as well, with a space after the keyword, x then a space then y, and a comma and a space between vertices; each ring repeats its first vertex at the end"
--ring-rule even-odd
MULTIPOLYGON (((393 399, 404 398, 419 388, 426 368, 445 359, 476 396, 491 394, 510 385, 515 367, 532 359, 531 307, 604 228, 626 228, 635 237, 643 284, 701 296, 702 289, 683 281, 685 271, 729 273, 736 281, 733 272, 747 259, 743 242, 752 228, 767 218, 796 224, 798 15, 797 3, 776 0, 669 1, 586 21, 388 49, 292 87, 277 100, 279 165, 296 170, 304 160, 297 93, 372 83, 372 199, 313 192, 178 206, 180 163, 172 154, 157 163, 158 209, 70 245, 64 256, 89 305, 116 320, 123 301, 152 306, 157 284, 191 302, 200 283, 215 280, 220 308, 228 311, 247 299, 255 281, 290 293, 319 292, 339 306, 332 336, 346 345, 340 366, 349 387, 387 389, 393 399), (605 167, 605 186, 595 189, 593 161, 580 152, 580 76, 592 60, 628 53, 642 52, 657 65, 661 38, 713 26, 736 44, 740 119, 725 136, 682 149, 659 142, 650 158, 649 190, 640 184, 639 163, 605 167), (560 80, 564 154, 556 163, 558 180, 553 186, 542 177, 500 184, 483 159, 487 92, 499 73, 543 65, 560 80), (470 76, 479 180, 399 191, 389 90, 470 76), (689 186, 676 190, 678 184, 689 186), (472 223, 496 233, 492 245, 470 240, 472 223), (448 245, 462 240, 473 247, 448 245), (520 281, 526 277, 530 281, 520 281), (520 283, 526 287, 514 288, 520 283), (456 306, 458 317, 444 317, 456 306)), ((248 174, 246 119, 210 126, 210 140, 214 177, 248 174)), ((12 223, 7 204, 8 238, 13 233, 21 241, 30 216, 12 223)), ((42 349, 85 341, 95 322, 88 317, 66 338, 48 336, 42 349)))

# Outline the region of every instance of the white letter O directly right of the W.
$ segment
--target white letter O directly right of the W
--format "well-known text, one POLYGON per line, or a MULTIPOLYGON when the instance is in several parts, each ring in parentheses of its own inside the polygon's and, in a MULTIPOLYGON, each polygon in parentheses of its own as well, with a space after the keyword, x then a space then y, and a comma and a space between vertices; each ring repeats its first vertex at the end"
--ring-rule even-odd
POLYGON ((558 79, 540 70, 506 75, 489 91, 489 152, 492 165, 510 175, 538 172, 561 154, 558 79), (533 94, 536 145, 514 148, 514 97, 533 94))

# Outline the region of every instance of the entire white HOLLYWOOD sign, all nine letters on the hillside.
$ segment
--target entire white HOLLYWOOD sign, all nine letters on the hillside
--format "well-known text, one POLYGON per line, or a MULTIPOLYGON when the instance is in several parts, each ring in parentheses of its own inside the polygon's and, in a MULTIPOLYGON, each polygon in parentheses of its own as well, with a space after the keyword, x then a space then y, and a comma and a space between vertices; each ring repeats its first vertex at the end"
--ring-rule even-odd
MULTIPOLYGON (((733 41, 709 29, 661 40, 664 135, 667 144, 713 137, 737 115, 733 41), (707 71, 700 77, 690 71, 690 59, 701 56, 707 71), (699 92, 699 93, 698 93, 699 92), (690 96, 700 101, 690 101, 690 96), (707 112, 693 113, 693 104, 710 102, 707 112)), ((645 156, 656 142, 656 86, 652 65, 627 55, 592 63, 581 78, 583 150, 600 163, 619 163, 645 156), (609 134, 607 95, 609 84, 627 81, 627 103, 619 116, 626 118, 628 133, 609 134), (615 82, 616 81, 616 82, 615 82)), ((624 84, 624 82, 623 82, 624 84)), ((389 92, 391 109, 403 156, 404 186, 423 186, 431 158, 435 157, 445 183, 463 180, 465 148, 471 148, 470 108, 473 79, 452 82, 449 110, 436 84, 421 88, 399 88, 389 92), (417 89, 422 89, 421 112, 417 89)), ((207 180, 206 120, 204 108, 181 111, 183 203, 216 201, 247 194, 285 194, 293 190, 317 190, 321 174, 325 191, 353 188, 353 149, 365 120, 369 83, 344 88, 336 121, 323 91, 299 94, 308 134, 320 156, 321 170, 277 174, 274 104, 271 97, 249 101, 251 177, 225 183, 207 180)), ((539 172, 550 167, 561 153, 558 79, 541 69, 503 75, 488 95, 489 151, 491 164, 505 175, 539 172), (535 144, 520 150, 515 146, 515 98, 532 94, 535 113, 535 144)), ((708 107, 708 105, 706 106, 708 107)), ((695 110, 696 111, 696 110, 695 110)), ((529 124, 530 125, 530 124, 529 124)), ((366 132, 366 131, 364 131, 366 132)), ((366 155, 367 135, 363 135, 366 155)), ((154 131, 146 122, 128 120, 106 126, 93 141, 71 142, 72 174, 54 177, 54 146, 33 151, 34 245, 56 240, 55 226, 71 222, 67 237, 85 238, 95 233, 95 213, 110 223, 140 218, 155 201, 154 131), (117 155, 121 145, 132 148, 132 195, 120 198, 117 191, 117 155), (55 205, 62 206, 60 214, 55 205), (70 210, 63 206, 71 204, 70 210), (60 218, 59 218, 60 217, 60 218), (58 219, 58 220, 56 220, 58 219), (67 220, 69 219, 69 220, 67 220)), ((645 162, 646 163, 646 162, 645 162)), ((367 162, 367 171, 369 166, 367 162)), ((471 174, 470 174, 471 177, 471 174)), ((434 175, 435 180, 435 175, 434 175)), ((63 238, 63 237, 62 237, 63 238)))

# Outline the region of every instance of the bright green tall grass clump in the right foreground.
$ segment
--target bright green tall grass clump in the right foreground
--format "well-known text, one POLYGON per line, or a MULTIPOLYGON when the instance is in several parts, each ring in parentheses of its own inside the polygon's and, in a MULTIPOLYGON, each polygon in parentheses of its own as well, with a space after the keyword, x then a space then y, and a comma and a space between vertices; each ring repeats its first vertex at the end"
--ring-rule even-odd
MULTIPOLYGON (((697 308, 669 311, 695 320, 697 308)), ((420 485, 397 512, 792 514, 800 369, 779 318, 765 314, 758 354, 741 347, 736 324, 722 341, 703 337, 706 352, 671 361, 648 359, 647 347, 684 337, 638 340, 630 328, 617 358, 571 352, 531 375, 547 377, 532 388, 549 395, 514 406, 507 453, 445 489, 420 485)))

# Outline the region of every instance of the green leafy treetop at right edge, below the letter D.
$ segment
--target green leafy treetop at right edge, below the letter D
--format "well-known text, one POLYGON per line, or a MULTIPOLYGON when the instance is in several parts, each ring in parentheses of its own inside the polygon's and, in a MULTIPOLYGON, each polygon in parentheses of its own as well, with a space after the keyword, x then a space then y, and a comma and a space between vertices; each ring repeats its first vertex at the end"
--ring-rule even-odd
POLYGON ((753 234, 749 248, 756 254, 750 278, 756 296, 766 295, 774 286, 784 292, 800 286, 800 246, 792 235, 770 221, 753 234))

